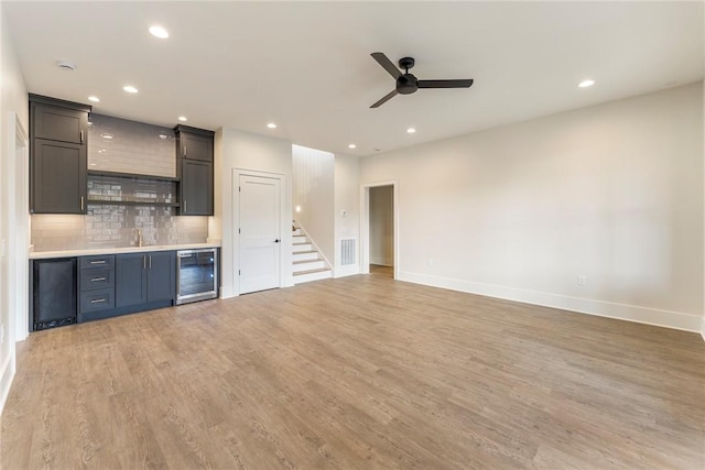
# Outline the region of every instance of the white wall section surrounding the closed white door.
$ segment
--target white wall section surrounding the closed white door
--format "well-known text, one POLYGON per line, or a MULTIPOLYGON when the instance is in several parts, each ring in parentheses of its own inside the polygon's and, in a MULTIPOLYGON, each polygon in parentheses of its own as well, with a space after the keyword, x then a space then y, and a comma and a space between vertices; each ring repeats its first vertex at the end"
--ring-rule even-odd
POLYGON ((209 239, 221 239, 220 285, 221 296, 239 294, 237 270, 239 265, 239 242, 234 230, 234 170, 283 175, 282 187, 285 201, 282 216, 282 276, 283 285, 293 285, 291 264, 291 220, 292 220, 292 154, 291 142, 271 139, 235 129, 220 129, 215 136, 215 182, 214 217, 209 223, 209 239))

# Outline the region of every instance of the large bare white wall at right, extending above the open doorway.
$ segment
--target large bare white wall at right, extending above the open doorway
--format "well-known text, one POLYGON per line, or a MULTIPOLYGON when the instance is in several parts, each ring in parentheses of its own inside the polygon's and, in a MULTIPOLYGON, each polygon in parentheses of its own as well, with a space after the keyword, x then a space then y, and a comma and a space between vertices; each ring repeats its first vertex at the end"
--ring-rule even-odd
POLYGON ((399 181, 399 278, 697 331, 702 94, 692 84, 364 159, 362 184, 399 181))

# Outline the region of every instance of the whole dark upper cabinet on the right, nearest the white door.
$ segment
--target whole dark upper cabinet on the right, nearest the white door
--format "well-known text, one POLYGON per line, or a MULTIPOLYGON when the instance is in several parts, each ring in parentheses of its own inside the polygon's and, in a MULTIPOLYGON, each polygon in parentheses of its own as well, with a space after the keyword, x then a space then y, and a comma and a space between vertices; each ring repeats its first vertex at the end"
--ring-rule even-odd
POLYGON ((214 132, 177 125, 176 168, 181 176, 181 215, 213 216, 214 132))

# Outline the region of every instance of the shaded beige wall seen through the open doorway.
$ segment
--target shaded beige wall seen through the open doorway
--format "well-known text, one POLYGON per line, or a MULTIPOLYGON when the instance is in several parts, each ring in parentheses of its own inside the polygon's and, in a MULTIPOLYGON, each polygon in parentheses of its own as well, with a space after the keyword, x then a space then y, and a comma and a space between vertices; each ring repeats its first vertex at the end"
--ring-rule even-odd
POLYGON ((370 264, 394 265, 394 193, 392 186, 370 188, 370 264))

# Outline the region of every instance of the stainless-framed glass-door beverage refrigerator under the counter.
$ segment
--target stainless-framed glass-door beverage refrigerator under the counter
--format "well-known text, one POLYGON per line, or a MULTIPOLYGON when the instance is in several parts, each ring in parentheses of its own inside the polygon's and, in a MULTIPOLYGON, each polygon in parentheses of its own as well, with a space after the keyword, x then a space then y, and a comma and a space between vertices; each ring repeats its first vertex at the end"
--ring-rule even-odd
POLYGON ((176 252, 176 304, 218 296, 218 252, 215 248, 176 252))

